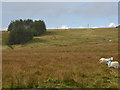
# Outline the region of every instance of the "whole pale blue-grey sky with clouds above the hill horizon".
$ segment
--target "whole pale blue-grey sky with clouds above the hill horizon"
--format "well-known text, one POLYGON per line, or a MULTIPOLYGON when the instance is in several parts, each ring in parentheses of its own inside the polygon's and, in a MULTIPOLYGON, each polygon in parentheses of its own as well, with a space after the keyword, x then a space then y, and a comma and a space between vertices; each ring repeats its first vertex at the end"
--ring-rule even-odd
POLYGON ((12 20, 44 20, 47 28, 97 28, 118 25, 117 2, 3 2, 2 29, 12 20))

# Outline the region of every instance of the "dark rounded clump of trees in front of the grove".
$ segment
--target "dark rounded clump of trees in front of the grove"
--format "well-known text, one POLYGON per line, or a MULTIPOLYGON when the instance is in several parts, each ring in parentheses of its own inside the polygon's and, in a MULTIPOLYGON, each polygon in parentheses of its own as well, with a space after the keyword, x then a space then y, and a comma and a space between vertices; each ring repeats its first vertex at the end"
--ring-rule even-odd
POLYGON ((8 45, 24 44, 33 38, 32 32, 25 29, 23 25, 17 26, 10 32, 8 45))

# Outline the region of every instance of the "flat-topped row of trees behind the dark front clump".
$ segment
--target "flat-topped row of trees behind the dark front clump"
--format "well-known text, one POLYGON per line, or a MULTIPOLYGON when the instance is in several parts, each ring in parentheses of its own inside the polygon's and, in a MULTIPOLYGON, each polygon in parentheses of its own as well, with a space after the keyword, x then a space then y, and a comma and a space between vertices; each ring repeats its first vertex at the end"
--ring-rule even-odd
POLYGON ((44 21, 35 20, 33 22, 33 20, 31 19, 27 19, 27 20, 20 19, 20 20, 11 21, 11 23, 8 26, 8 31, 13 31, 16 27, 19 27, 21 25, 24 26, 25 29, 31 30, 34 36, 39 36, 46 31, 46 26, 44 21))

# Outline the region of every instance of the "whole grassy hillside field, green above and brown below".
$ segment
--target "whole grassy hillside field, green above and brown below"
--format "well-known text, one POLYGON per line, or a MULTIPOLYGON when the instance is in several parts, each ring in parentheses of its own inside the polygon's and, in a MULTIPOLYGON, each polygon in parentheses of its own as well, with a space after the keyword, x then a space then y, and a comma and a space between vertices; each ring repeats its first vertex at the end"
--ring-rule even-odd
POLYGON ((118 88, 118 70, 99 63, 118 60, 118 30, 47 30, 24 45, 5 45, 3 88, 118 88), (112 42, 109 42, 112 40, 112 42))

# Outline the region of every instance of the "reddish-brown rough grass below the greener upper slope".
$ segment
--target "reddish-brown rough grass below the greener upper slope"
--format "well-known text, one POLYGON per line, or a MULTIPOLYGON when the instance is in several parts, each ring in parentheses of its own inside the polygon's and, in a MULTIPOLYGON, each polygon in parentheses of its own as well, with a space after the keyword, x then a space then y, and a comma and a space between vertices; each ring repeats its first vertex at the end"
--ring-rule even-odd
POLYGON ((18 83, 19 87, 29 88, 33 82, 34 88, 117 88, 118 71, 98 62, 111 55, 117 60, 117 49, 117 42, 52 47, 28 44, 14 46, 13 50, 4 46, 3 88, 17 88, 18 83))

